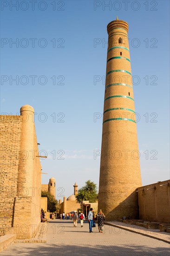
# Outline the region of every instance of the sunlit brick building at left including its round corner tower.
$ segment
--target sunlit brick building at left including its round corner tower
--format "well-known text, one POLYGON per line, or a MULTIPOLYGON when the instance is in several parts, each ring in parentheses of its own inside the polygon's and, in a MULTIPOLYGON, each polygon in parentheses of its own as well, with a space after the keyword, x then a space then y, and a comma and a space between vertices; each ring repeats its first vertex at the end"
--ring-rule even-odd
POLYGON ((21 107, 20 116, 0 117, 5 152, 0 162, 0 224, 10 225, 17 238, 32 237, 40 222, 41 165, 33 117, 29 105, 21 107))

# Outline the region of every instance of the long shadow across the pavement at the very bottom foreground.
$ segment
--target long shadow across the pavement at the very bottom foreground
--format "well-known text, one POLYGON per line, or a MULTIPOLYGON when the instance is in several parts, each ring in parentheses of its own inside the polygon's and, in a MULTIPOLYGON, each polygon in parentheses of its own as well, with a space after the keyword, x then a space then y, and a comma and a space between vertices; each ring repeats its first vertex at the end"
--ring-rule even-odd
MULTIPOLYGON (((83 240, 83 236, 82 236, 83 240)), ((11 246, 9 247, 11 249, 11 246)), ((9 249, 1 252, 1 256, 9 256, 11 251, 9 249)), ((51 255, 69 255, 69 256, 93 256, 105 255, 105 256, 132 256, 132 255, 142 255, 142 256, 169 256, 169 248, 150 248, 146 246, 139 245, 126 245, 122 246, 110 246, 110 245, 95 245, 91 246, 89 244, 73 245, 73 244, 30 244, 29 247, 22 247, 22 245, 17 248, 13 246, 12 255, 13 256, 51 256, 51 255)))

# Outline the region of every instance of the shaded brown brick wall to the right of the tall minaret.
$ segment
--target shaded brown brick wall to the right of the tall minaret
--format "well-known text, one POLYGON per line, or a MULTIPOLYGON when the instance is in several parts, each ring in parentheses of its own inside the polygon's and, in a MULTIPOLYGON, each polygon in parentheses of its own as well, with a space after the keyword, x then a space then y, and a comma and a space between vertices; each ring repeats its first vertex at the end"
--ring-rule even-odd
POLYGON ((170 180, 137 188, 141 220, 170 223, 170 180))

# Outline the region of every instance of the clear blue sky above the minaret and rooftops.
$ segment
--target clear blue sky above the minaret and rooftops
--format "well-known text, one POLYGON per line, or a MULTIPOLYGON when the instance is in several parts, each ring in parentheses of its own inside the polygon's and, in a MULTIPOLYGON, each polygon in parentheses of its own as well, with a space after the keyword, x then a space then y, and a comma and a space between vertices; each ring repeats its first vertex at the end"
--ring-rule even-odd
POLYGON ((117 15, 129 23, 132 75, 140 78, 134 98, 142 182, 169 179, 170 2, 38 0, 34 10, 30 1, 10 2, 1 1, 0 112, 16 115, 25 104, 35 109, 39 150, 48 155, 42 183, 54 176, 64 188, 57 195, 65 196, 75 182, 98 185, 100 157, 93 155, 101 148, 102 117, 94 122, 94 113, 103 112, 106 27, 117 15), (96 75, 101 81, 94 84, 96 75))

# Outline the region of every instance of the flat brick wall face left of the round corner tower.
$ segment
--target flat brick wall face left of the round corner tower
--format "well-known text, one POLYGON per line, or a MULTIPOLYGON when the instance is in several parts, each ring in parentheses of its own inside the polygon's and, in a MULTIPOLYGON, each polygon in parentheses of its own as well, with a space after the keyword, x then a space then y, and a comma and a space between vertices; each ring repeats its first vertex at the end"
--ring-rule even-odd
POLYGON ((13 226, 22 116, 0 115, 0 225, 13 226))

